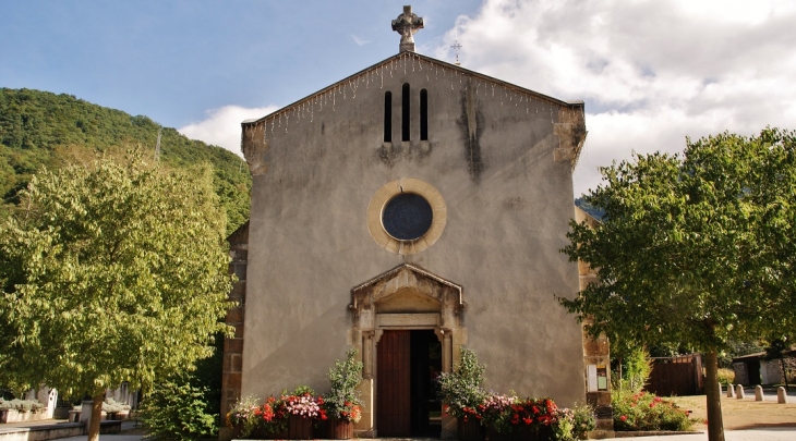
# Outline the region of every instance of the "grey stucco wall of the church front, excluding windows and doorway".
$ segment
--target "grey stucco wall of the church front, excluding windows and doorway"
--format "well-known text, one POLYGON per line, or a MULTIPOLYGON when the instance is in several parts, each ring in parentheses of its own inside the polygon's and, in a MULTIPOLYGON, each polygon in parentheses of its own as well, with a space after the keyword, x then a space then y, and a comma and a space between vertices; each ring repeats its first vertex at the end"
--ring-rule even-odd
POLYGON ((242 395, 327 390, 328 367, 352 344, 351 289, 410 262, 462 286, 466 344, 486 365, 486 388, 582 402, 581 329, 554 298, 578 292, 577 265, 559 253, 574 199, 560 155, 569 140, 555 124, 581 112, 407 56, 245 123, 254 185, 242 395), (400 142, 403 83, 409 143, 400 142), (419 140, 421 88, 429 143, 419 140), (379 247, 366 224, 374 193, 401 177, 430 183, 447 206, 438 241, 408 256, 379 247))

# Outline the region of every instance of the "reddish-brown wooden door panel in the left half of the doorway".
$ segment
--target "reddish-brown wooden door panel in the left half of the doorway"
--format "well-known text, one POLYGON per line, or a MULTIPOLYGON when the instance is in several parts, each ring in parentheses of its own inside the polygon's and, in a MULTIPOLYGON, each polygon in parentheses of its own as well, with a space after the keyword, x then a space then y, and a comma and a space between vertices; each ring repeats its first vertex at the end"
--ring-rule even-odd
POLYGON ((376 430, 409 437, 412 430, 410 331, 384 331, 376 348, 376 430))

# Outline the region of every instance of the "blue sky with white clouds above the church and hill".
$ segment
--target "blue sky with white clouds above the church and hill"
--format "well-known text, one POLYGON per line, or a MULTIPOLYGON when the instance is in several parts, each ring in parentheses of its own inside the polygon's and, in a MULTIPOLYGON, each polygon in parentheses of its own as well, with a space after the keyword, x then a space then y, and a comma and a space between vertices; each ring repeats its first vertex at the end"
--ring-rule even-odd
POLYGON ((398 52, 586 102, 575 195, 686 138, 796 128, 793 0, 0 0, 0 87, 64 93, 240 155, 240 123, 398 52))

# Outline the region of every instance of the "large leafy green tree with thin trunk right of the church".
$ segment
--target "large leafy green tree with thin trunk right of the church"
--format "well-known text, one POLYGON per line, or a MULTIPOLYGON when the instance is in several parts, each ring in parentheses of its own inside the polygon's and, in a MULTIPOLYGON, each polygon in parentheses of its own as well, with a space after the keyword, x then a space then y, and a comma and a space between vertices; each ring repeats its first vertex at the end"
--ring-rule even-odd
POLYGON ((599 283, 560 303, 593 317, 594 335, 704 353, 709 439, 723 440, 717 353, 794 329, 795 134, 724 133, 601 172, 586 200, 605 216, 594 229, 572 222, 563 250, 599 283))

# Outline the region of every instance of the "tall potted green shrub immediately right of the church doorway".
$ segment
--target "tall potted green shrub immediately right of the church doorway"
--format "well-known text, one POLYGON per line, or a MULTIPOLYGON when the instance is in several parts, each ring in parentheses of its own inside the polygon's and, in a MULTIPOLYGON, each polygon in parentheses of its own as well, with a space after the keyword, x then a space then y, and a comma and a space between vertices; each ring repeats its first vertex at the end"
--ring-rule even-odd
POLYGON ((460 355, 454 371, 437 378, 437 395, 445 403, 445 412, 458 419, 459 440, 483 441, 480 405, 487 395, 481 388, 484 366, 479 365, 475 353, 466 347, 461 348, 460 355))

